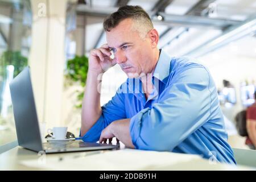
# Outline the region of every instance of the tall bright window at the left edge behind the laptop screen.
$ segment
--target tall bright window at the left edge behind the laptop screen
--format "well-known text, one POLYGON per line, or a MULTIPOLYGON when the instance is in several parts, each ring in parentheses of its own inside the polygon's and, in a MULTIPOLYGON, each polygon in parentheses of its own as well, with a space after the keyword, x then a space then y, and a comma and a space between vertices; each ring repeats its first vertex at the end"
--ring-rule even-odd
POLYGON ((0 0, 0 146, 16 140, 9 82, 28 64, 31 24, 29 0, 0 0))

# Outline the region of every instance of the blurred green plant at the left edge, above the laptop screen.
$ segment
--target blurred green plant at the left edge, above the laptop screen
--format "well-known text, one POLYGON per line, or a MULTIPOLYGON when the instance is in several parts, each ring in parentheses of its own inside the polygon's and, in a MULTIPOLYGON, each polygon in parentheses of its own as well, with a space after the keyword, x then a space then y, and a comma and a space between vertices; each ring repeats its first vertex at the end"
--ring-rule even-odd
POLYGON ((27 66, 27 57, 21 55, 20 51, 5 51, 0 57, 0 74, 6 76, 6 65, 14 65, 14 77, 27 66))

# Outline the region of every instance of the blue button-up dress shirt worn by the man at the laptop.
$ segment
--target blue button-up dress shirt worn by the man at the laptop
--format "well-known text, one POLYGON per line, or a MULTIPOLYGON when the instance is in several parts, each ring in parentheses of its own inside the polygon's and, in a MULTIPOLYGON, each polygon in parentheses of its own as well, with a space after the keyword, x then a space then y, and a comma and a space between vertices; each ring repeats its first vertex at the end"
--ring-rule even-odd
POLYGON ((207 68, 161 50, 152 82, 144 96, 139 78, 127 78, 102 114, 82 137, 97 142, 111 122, 130 118, 130 135, 137 149, 197 154, 236 164, 227 140, 217 90, 207 68))

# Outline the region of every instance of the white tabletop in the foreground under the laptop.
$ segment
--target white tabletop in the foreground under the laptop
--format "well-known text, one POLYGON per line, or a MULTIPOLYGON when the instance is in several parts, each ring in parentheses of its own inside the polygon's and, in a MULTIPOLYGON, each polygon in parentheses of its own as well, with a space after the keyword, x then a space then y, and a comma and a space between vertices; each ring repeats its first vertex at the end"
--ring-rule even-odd
POLYGON ((0 154, 0 170, 247 170, 244 166, 211 164, 196 155, 125 148, 38 155, 22 147, 0 154), (40 164, 47 159, 47 164, 40 164), (150 163, 149 163, 149 160, 150 163), (137 164, 134 164, 137 163, 137 164), (40 166, 41 165, 41 166, 40 166), (59 166, 59 167, 58 167, 59 166))

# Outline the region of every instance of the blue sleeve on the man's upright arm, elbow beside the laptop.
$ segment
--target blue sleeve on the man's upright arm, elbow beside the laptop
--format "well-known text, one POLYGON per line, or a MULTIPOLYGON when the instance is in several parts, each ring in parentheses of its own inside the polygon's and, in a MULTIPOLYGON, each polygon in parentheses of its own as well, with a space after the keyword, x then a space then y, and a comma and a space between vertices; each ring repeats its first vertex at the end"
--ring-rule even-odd
MULTIPOLYGON (((123 103, 122 85, 118 92, 112 97, 107 104, 101 107, 102 114, 96 123, 86 132, 81 139, 84 142, 97 142, 100 139, 101 131, 105 129, 110 123, 118 119, 126 118, 125 104, 123 103)), ((80 134, 81 136, 81 134, 80 134)))

